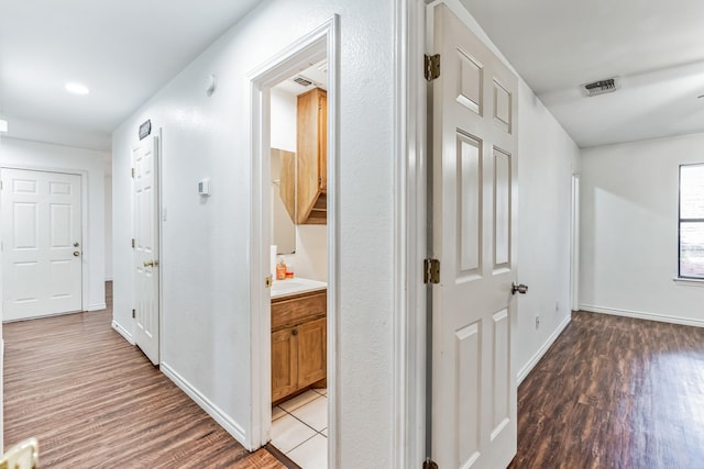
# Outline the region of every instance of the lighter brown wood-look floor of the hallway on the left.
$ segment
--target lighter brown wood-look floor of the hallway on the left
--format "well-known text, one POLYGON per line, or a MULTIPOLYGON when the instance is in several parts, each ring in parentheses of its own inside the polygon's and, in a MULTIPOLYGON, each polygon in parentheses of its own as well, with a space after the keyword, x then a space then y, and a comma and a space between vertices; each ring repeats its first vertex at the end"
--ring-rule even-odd
POLYGON ((249 454, 111 326, 106 311, 3 325, 6 448, 43 468, 285 468, 249 454))

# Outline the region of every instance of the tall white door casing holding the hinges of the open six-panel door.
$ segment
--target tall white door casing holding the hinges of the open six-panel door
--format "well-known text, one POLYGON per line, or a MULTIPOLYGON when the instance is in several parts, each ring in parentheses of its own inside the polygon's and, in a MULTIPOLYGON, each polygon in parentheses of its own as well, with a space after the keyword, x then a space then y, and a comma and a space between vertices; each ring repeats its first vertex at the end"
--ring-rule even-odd
POLYGON ((424 0, 396 3, 394 145, 394 347, 391 467, 417 467, 426 445, 427 250, 426 49, 424 0))

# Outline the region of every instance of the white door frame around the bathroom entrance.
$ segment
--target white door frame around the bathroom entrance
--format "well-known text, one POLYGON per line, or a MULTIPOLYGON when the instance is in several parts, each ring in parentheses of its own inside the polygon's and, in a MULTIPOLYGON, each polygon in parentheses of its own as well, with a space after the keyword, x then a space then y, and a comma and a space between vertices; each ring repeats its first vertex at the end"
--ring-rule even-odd
POLYGON ((337 337, 339 335, 339 55, 340 18, 333 15, 286 49, 249 74, 251 97, 251 213, 250 213, 250 306, 251 306, 251 432, 248 449, 271 439, 271 297, 265 287, 271 255, 271 88, 296 75, 301 66, 328 58, 328 460, 337 467, 339 406, 337 389, 337 337), (256 344, 256 345, 254 345, 256 344))

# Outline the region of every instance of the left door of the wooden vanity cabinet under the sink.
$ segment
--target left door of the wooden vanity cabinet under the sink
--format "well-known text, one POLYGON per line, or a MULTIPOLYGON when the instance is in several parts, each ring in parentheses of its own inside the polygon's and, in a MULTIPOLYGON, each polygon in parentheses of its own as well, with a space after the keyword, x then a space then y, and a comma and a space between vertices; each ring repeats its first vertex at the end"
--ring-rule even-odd
POLYGON ((272 333, 272 402, 298 389, 298 340, 295 328, 272 333))

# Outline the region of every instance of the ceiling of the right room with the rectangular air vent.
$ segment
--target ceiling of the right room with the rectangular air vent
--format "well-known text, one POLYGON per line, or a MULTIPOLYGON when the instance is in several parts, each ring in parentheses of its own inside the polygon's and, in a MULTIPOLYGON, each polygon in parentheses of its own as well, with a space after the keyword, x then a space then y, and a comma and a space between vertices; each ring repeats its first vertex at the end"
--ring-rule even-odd
POLYGON ((461 2, 579 146, 704 131, 701 0, 461 2))

